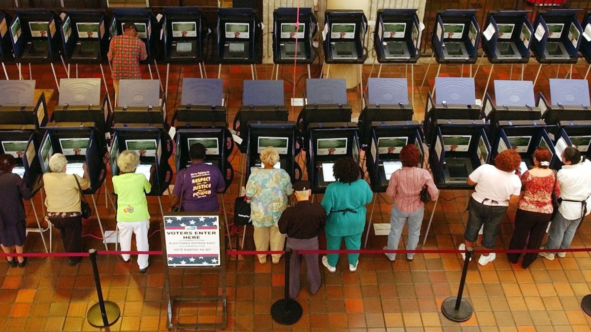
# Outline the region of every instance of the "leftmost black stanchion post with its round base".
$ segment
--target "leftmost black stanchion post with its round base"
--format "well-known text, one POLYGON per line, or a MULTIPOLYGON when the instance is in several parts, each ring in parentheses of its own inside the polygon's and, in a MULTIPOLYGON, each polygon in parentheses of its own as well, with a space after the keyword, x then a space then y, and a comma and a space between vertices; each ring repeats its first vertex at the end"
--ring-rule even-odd
POLYGON ((99 302, 89 308, 86 318, 88 323, 94 327, 111 326, 119 319, 121 310, 115 302, 103 299, 103 290, 100 288, 99 267, 96 265, 96 249, 90 249, 88 253, 92 263, 92 272, 95 275, 96 294, 99 297, 99 302))

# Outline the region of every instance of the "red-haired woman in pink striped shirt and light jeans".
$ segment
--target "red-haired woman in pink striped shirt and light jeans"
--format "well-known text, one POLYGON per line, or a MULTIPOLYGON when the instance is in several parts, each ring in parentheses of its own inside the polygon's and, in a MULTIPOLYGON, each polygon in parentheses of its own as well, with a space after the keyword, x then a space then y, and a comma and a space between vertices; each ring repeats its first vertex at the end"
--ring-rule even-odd
MULTIPOLYGON (((392 173, 386 193, 392 197, 392 214, 390 217, 390 233, 388 246, 384 250, 398 249, 402 228, 408 222, 407 250, 417 249, 418 236, 423 223, 424 203, 421 201, 421 190, 427 185, 428 192, 434 200, 439 194, 433 176, 427 170, 418 168, 421 152, 413 144, 405 145, 400 151, 402 168, 392 173)), ((396 259, 395 253, 385 254, 390 261, 396 259)), ((412 261, 414 253, 407 253, 407 261, 412 261)))

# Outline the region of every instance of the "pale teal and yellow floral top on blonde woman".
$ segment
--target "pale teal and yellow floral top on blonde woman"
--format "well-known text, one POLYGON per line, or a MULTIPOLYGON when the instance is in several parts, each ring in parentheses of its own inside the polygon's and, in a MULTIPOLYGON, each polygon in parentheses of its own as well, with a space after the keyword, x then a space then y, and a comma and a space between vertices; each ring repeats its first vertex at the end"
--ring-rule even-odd
POLYGON ((261 168, 253 172, 246 183, 246 196, 252 197, 252 224, 256 227, 276 225, 287 208, 287 196, 291 193, 291 179, 286 171, 261 168))

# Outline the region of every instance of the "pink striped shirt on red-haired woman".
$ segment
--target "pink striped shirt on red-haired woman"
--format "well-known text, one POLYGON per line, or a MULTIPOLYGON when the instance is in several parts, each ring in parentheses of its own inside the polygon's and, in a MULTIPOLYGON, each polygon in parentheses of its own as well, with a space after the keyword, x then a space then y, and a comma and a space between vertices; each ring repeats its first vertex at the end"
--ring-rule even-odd
POLYGON ((435 200, 439 189, 433 182, 431 173, 423 168, 402 167, 392 173, 386 193, 394 199, 394 206, 401 212, 411 213, 421 209, 421 190, 427 185, 431 198, 435 200))

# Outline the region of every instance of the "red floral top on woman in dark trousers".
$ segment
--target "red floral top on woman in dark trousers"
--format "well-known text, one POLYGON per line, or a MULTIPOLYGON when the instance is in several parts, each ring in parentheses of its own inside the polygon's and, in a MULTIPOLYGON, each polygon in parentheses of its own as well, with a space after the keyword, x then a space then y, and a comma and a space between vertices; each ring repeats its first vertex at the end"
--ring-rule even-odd
POLYGON ((530 174, 530 171, 525 171, 521 175, 521 185, 525 187, 525 191, 517 204, 519 210, 552 213, 553 186, 556 196, 560 197, 560 184, 554 171, 545 177, 535 177, 530 174))

